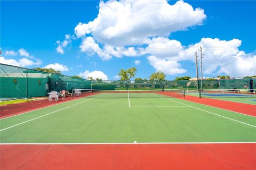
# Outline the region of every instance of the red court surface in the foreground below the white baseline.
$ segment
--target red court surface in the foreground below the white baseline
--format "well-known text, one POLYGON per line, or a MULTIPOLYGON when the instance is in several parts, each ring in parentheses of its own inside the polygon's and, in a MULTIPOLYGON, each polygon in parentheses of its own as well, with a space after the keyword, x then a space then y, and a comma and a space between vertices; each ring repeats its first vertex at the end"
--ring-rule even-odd
POLYGON ((255 169, 256 143, 1 145, 1 169, 255 169))

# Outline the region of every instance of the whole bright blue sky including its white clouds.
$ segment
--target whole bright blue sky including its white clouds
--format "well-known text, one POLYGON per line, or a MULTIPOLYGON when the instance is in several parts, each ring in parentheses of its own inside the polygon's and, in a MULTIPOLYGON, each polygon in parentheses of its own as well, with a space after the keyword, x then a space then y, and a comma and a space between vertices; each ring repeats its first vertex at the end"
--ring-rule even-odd
POLYGON ((174 79, 195 77, 202 46, 204 77, 256 74, 255 1, 159 2, 1 1, 0 63, 109 80, 135 66, 136 77, 174 79))

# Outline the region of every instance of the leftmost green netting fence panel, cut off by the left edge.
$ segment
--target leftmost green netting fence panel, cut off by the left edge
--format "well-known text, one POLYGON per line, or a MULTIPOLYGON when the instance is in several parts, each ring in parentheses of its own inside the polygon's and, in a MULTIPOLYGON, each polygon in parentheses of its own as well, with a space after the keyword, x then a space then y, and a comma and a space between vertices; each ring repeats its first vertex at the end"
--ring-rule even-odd
POLYGON ((27 69, 0 64, 0 100, 27 97, 27 69))

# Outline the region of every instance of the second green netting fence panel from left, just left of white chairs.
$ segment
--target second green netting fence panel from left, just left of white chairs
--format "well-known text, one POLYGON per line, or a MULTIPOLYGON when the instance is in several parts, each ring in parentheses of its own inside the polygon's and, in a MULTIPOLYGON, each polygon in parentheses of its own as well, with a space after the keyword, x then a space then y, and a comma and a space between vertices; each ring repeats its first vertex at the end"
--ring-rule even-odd
POLYGON ((46 96, 46 83, 48 83, 48 73, 28 70, 28 97, 46 96))

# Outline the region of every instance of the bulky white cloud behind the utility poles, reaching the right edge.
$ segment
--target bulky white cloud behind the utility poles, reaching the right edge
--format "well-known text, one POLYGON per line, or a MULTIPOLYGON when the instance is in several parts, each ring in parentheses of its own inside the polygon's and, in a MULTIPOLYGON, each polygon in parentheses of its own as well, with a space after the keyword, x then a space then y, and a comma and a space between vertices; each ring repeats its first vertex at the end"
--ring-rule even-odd
POLYGON ((202 38, 199 43, 190 45, 183 53, 187 60, 195 61, 194 56, 199 46, 203 47, 203 71, 206 74, 228 74, 231 77, 243 77, 256 74, 256 55, 246 54, 238 49, 239 39, 220 40, 202 38))

